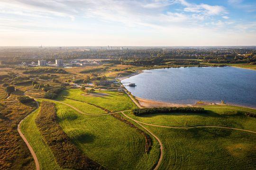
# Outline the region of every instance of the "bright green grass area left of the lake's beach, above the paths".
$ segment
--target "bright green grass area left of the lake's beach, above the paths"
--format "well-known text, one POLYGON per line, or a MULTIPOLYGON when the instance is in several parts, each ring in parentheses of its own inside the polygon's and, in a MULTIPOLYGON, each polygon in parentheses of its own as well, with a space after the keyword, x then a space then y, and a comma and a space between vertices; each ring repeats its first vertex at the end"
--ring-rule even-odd
MULTIPOLYGON (((120 111, 120 110, 130 110, 136 108, 136 105, 130 100, 130 98, 126 94, 118 94, 118 92, 112 91, 103 91, 105 95, 99 97, 93 97, 91 95, 84 95, 80 89, 68 89, 63 91, 60 95, 65 97, 75 99, 82 102, 89 102, 92 104, 96 104, 103 108, 106 108, 110 111, 120 111)), ((96 91, 95 93, 98 93, 96 91)), ((64 100, 64 98, 59 97, 57 100, 64 100)), ((66 102, 65 100, 63 102, 66 102)))

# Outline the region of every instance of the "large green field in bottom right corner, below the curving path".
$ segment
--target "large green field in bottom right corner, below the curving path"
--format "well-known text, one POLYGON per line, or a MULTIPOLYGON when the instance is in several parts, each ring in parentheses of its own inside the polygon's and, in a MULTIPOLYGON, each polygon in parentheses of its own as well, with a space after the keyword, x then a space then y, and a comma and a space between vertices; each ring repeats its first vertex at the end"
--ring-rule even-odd
POLYGON ((254 170, 256 167, 253 133, 221 128, 145 127, 164 146, 159 170, 254 170))

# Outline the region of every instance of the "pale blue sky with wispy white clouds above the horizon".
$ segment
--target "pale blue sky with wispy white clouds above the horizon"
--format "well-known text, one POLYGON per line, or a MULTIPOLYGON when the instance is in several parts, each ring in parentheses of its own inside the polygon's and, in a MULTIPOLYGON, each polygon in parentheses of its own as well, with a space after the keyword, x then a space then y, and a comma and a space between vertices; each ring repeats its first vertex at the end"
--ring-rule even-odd
POLYGON ((0 46, 256 45, 256 0, 0 0, 0 46))

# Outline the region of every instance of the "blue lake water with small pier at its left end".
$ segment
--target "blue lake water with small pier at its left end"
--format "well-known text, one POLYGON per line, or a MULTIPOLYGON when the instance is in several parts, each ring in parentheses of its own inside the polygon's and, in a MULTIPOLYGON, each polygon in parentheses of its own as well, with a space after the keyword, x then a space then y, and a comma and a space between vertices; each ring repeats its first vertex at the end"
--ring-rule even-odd
POLYGON ((162 102, 220 102, 256 108, 256 71, 233 67, 191 67, 145 70, 122 83, 133 95, 162 102), (127 85, 127 84, 124 84, 127 85))

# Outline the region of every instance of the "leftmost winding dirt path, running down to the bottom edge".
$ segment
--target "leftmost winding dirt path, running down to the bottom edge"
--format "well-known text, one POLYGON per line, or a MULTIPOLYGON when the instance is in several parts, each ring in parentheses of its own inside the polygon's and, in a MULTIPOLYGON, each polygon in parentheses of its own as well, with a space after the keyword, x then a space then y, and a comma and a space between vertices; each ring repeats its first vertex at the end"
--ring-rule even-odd
MULTIPOLYGON (((34 113, 35 111, 37 111, 38 107, 39 107, 39 104, 38 104, 38 102, 37 102, 37 108, 36 108, 34 111, 32 111, 31 113, 34 113)), ((30 115, 31 113, 29 113, 28 115, 30 115)), ((28 115, 27 115, 24 119, 26 119, 26 118, 28 117, 28 115)), ((24 119, 22 119, 22 120, 18 123, 17 130, 18 130, 18 133, 19 133, 20 137, 21 137, 21 138, 23 139, 23 141, 27 144, 27 147, 28 147, 30 153, 32 154, 32 156, 33 156, 33 158, 34 158, 34 161, 35 161, 35 164, 36 164, 36 170, 40 170, 40 166, 39 166, 39 162, 38 162, 38 159, 37 159, 37 155, 36 155, 36 153, 34 152, 34 150, 33 150, 33 148, 31 147, 31 145, 28 143, 26 137, 23 135, 23 133, 22 133, 21 130, 20 130, 20 124, 23 122, 24 119)))

